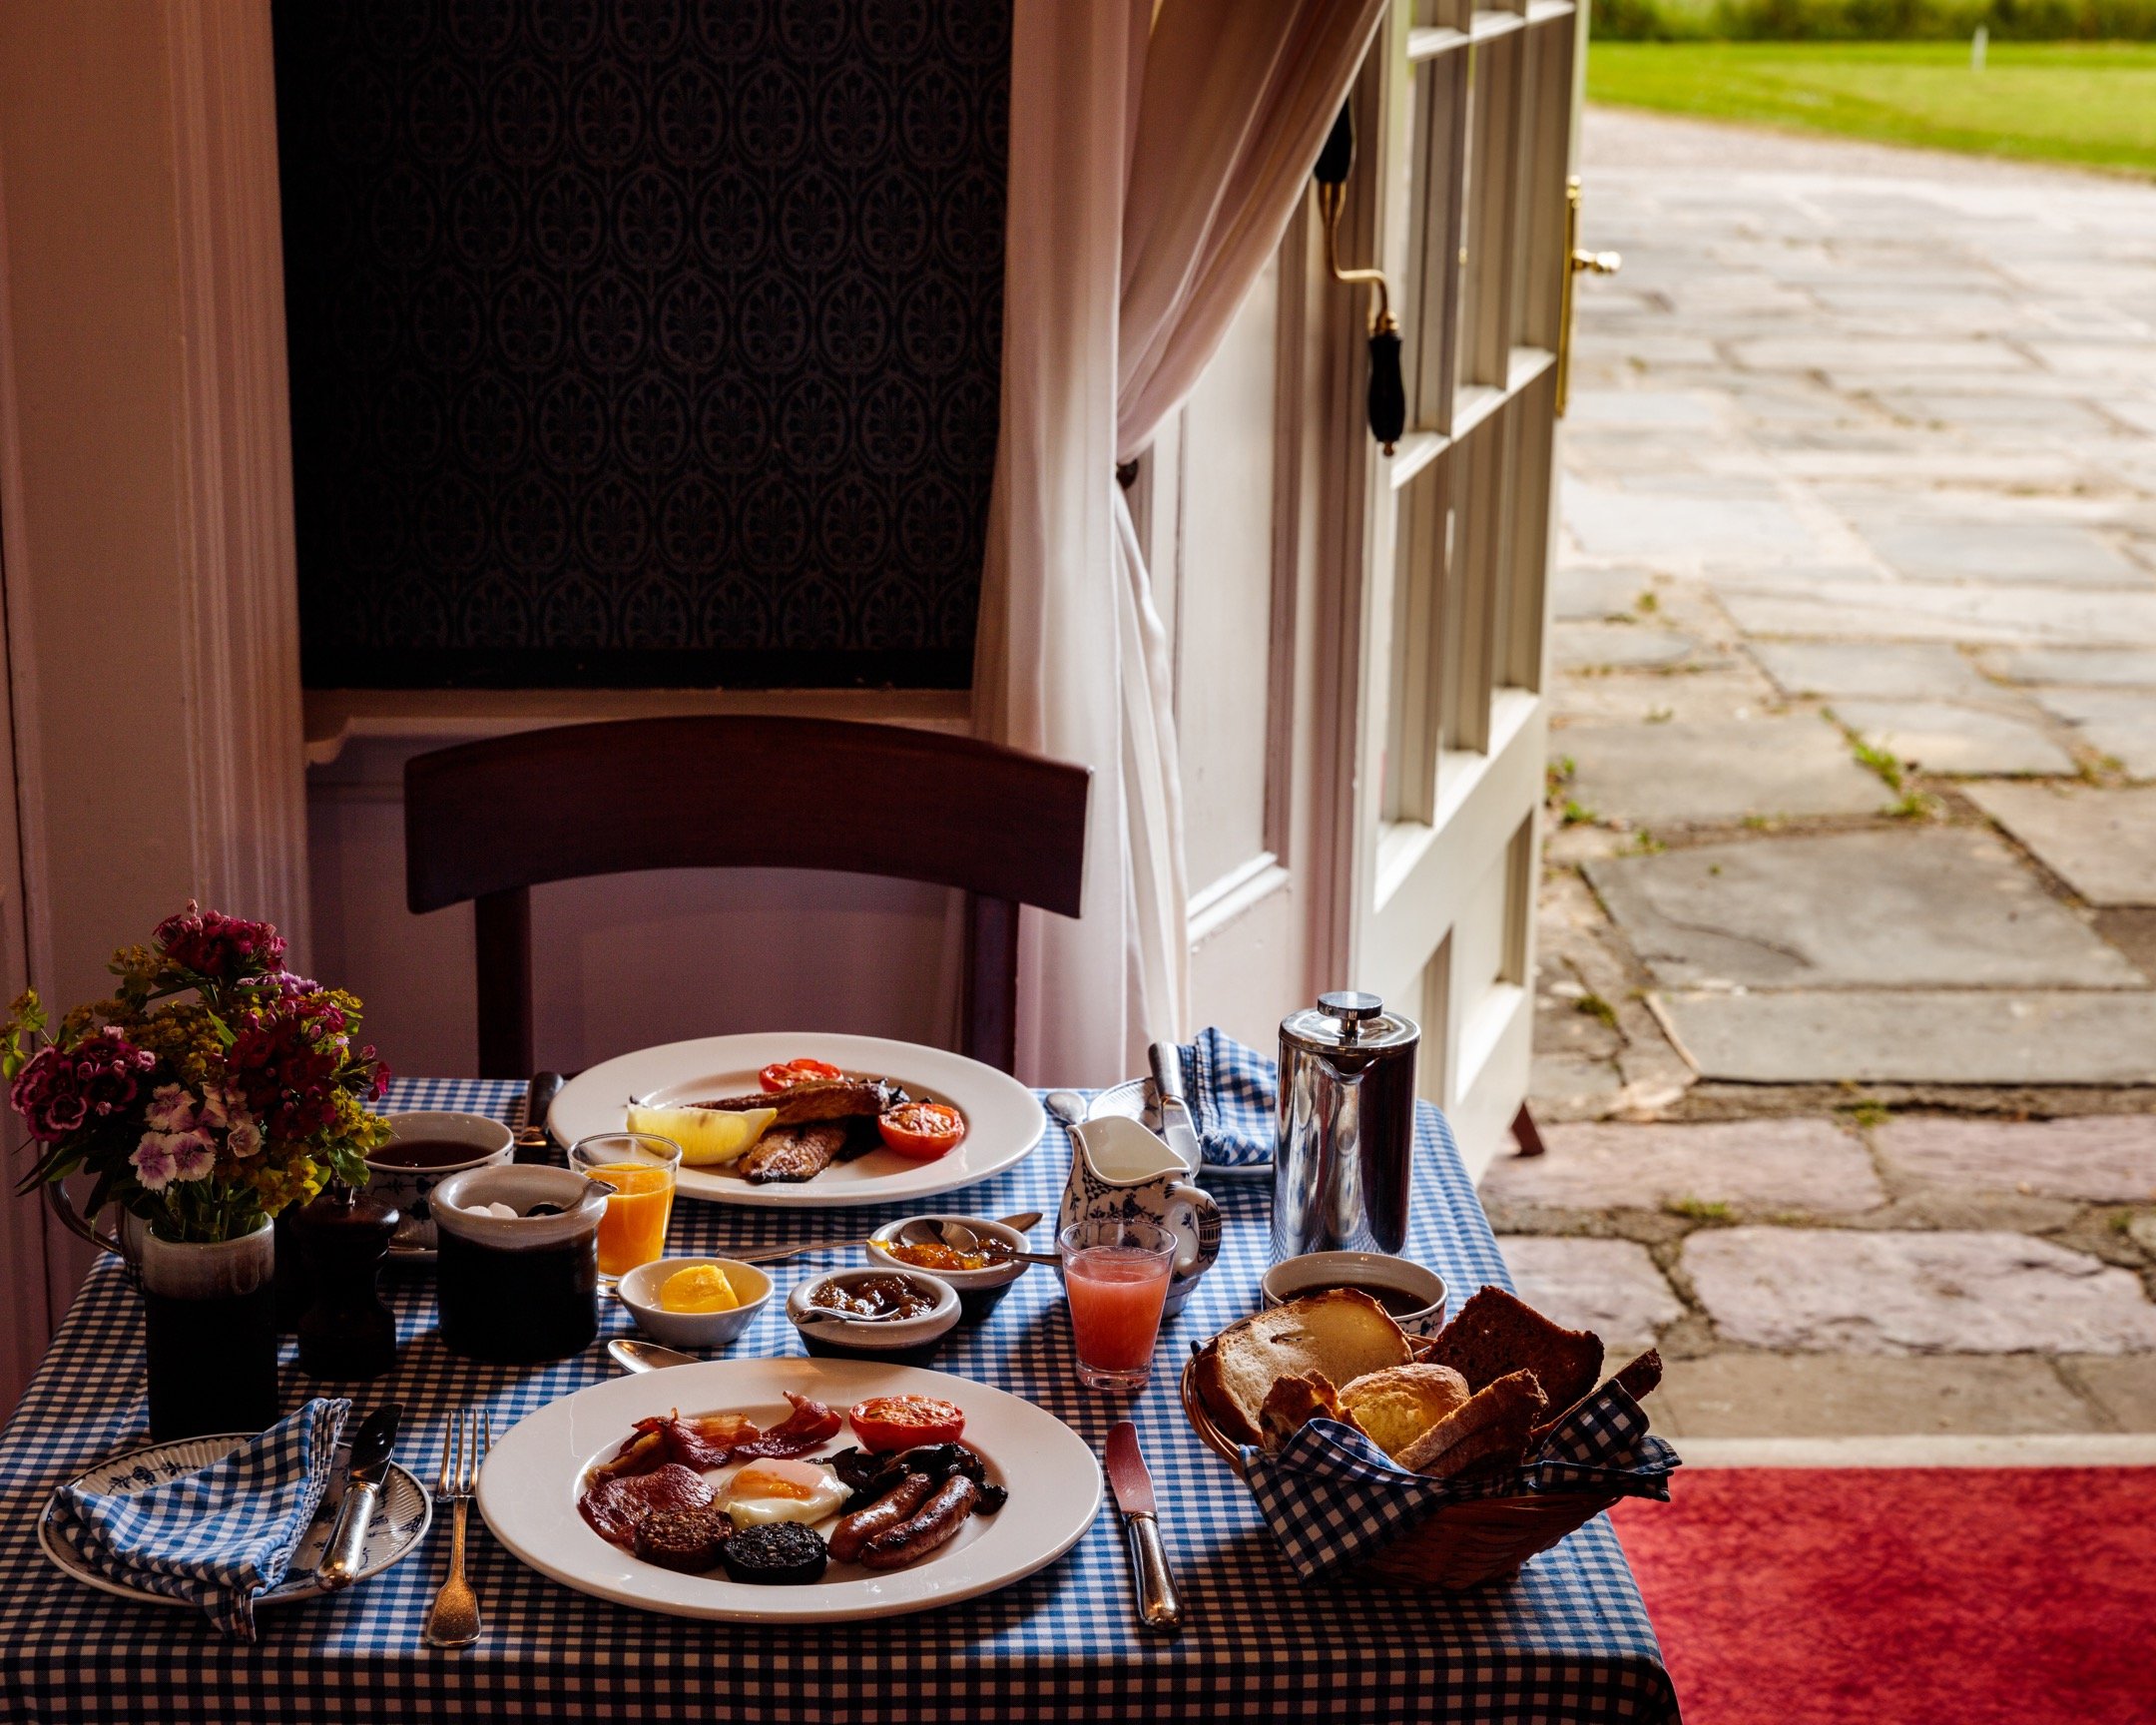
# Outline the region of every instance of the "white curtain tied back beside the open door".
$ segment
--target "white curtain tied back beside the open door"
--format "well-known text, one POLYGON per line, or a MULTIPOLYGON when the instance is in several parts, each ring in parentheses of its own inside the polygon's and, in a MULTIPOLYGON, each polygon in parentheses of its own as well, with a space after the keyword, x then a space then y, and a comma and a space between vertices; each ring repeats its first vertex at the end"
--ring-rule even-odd
POLYGON ((1181 405, 1279 248, 1382 11, 1015 4, 975 731, 1093 768, 1084 916, 1026 912, 1022 934, 1033 1082, 1115 1082, 1194 1029, 1169 643, 1115 464, 1181 405))

